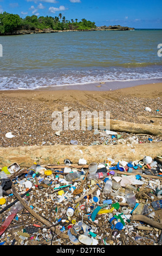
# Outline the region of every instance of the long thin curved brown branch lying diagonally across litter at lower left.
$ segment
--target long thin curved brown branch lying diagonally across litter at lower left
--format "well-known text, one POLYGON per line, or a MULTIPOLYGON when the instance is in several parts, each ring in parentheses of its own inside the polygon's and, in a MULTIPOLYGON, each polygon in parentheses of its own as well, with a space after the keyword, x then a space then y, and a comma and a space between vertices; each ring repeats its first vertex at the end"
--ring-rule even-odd
POLYGON ((42 222, 44 225, 46 225, 48 228, 50 228, 52 231, 54 231, 58 236, 67 239, 69 236, 62 233, 59 229, 55 227, 51 227, 51 222, 45 220, 43 217, 38 215, 34 210, 32 210, 25 202, 24 200, 19 196, 19 194, 16 192, 14 184, 12 183, 12 192, 17 197, 17 199, 20 201, 20 203, 24 206, 24 208, 29 211, 31 215, 33 215, 38 221, 42 222))

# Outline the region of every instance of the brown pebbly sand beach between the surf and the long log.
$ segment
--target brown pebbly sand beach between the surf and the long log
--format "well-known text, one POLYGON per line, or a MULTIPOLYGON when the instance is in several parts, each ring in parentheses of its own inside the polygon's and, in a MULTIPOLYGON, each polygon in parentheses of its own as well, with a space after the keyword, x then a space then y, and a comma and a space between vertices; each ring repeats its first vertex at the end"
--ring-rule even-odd
MULTIPOLYGON (((90 145, 96 141, 105 143, 105 138, 94 131, 61 131, 55 135, 51 128, 52 113, 69 107, 72 111, 109 111, 111 119, 140 124, 161 124, 162 83, 144 84, 118 90, 102 90, 104 84, 94 84, 94 90, 79 90, 64 87, 43 90, 4 90, 0 92, 1 147, 25 145, 70 144, 90 145), (97 90, 96 90, 97 89, 97 90), (151 112, 145 108, 151 108, 151 112), (156 116, 156 117, 155 117, 156 116), (158 116, 158 117, 157 117, 158 116), (161 117, 161 118, 159 118, 161 117), (11 132, 15 137, 7 138, 11 132)), ((119 133, 122 138, 133 135, 119 133)), ((136 136, 138 143, 160 141, 162 136, 136 136)), ((116 143, 110 139, 107 143, 116 143)))

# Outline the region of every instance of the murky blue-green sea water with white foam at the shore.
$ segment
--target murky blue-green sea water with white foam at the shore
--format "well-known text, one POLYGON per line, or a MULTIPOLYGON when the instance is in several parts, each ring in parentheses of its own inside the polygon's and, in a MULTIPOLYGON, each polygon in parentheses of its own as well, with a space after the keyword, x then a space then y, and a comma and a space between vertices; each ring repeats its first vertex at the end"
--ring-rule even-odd
POLYGON ((0 44, 0 90, 162 81, 162 29, 0 36, 0 44))

